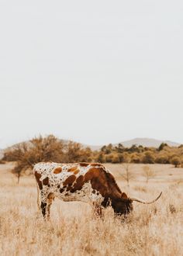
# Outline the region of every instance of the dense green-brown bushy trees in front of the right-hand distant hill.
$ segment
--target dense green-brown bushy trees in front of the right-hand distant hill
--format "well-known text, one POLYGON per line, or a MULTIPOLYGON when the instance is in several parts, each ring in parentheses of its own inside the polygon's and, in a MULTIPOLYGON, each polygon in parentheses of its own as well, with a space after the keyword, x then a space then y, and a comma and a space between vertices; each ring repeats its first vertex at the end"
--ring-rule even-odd
POLYGON ((98 151, 98 161, 109 163, 136 163, 136 164, 174 164, 183 166, 183 145, 169 147, 162 143, 160 147, 143 147, 132 145, 123 147, 123 144, 103 146, 98 151))

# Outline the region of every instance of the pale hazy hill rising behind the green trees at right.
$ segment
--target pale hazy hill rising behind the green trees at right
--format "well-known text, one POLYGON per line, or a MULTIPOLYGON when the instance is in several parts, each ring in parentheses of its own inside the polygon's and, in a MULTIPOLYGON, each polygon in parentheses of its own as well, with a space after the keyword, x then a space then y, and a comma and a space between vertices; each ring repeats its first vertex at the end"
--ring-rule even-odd
POLYGON ((162 143, 166 143, 171 147, 178 147, 180 145, 170 140, 155 140, 150 138, 135 138, 133 140, 126 140, 121 142, 124 147, 131 147, 133 144, 136 144, 136 146, 141 145, 143 147, 159 147, 162 143))

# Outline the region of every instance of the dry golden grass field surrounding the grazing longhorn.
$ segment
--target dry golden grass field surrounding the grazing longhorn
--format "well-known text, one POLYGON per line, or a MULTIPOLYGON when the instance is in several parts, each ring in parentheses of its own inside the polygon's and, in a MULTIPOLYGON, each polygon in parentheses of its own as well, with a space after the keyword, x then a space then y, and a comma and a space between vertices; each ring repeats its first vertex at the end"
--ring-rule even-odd
POLYGON ((55 200, 50 221, 36 206, 36 182, 22 177, 19 185, 11 164, 0 164, 0 255, 183 255, 183 169, 153 164, 147 183, 143 164, 130 165, 129 187, 122 164, 105 164, 129 196, 161 199, 152 205, 133 203, 127 220, 114 218, 111 208, 103 219, 81 202, 55 200))

